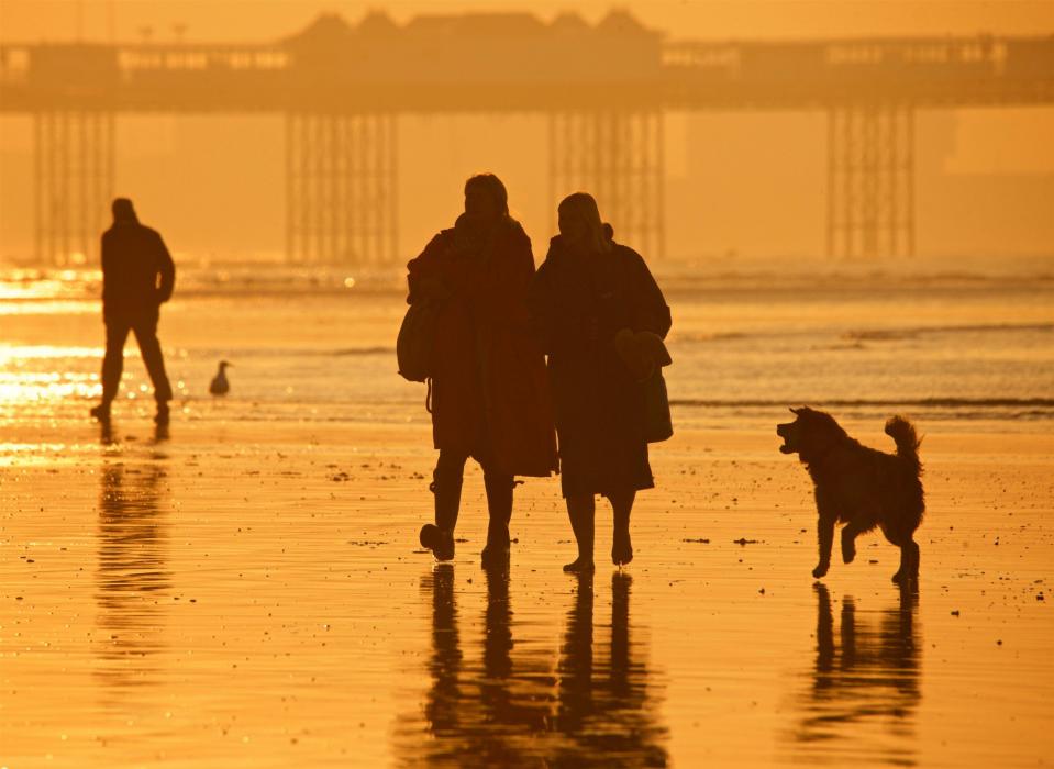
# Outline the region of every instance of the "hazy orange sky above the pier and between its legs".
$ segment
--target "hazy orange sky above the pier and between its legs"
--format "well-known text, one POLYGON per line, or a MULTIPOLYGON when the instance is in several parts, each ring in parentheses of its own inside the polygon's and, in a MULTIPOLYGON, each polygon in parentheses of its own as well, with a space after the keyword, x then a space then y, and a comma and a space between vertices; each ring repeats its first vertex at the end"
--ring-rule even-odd
MULTIPOLYGON (((1054 0, 684 0, 619 3, 680 38, 894 34, 1054 34, 1054 0)), ((576 8, 596 20, 610 2, 380 3, 339 0, 0 0, 0 40, 86 38, 249 42, 286 36, 319 13, 355 21, 382 7, 400 21, 470 9, 576 8)), ((29 116, 0 119, 0 259, 32 243, 29 116)), ((118 122, 118 192, 193 253, 281 248, 282 133, 278 115, 146 116, 118 122)), ((823 248, 823 115, 670 114, 667 221, 672 256, 814 255, 823 248), (764 226, 759 226, 764 222, 764 226)), ((1054 108, 920 110, 919 249, 925 254, 1054 254, 1054 108)), ((400 230, 412 255, 453 221, 461 185, 492 170, 535 242, 552 227, 545 126, 536 115, 400 121, 400 230), (436 147, 442 152, 435 152, 436 147), (510 152, 510 147, 515 147, 510 152)))

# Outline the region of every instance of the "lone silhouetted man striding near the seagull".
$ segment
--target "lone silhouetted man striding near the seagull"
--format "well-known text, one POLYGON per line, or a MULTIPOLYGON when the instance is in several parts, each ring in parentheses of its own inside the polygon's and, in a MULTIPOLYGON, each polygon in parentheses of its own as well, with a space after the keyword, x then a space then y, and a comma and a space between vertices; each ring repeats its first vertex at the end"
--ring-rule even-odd
POLYGON ((124 343, 135 334, 143 363, 154 383, 157 424, 168 424, 171 386, 157 341, 157 319, 163 302, 171 298, 176 266, 162 236, 140 224, 127 198, 113 201, 113 226, 102 234, 102 320, 107 353, 102 359, 102 402, 91 410, 97 420, 110 419, 124 366, 124 343))

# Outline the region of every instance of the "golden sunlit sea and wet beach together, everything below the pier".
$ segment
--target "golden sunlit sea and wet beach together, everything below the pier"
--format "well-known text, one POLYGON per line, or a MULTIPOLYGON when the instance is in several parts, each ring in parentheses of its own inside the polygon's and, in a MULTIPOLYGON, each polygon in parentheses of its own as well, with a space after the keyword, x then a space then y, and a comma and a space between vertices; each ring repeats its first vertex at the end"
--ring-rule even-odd
POLYGON ((508 572, 478 566, 476 469, 453 566, 419 550, 398 276, 184 270, 157 433, 133 343, 112 431, 86 419, 98 276, 8 271, 0 766, 1049 764, 1043 270, 665 278, 678 433, 637 559, 591 580, 559 571, 555 480, 518 491, 508 572), (813 584, 811 490, 773 435, 806 402, 870 445, 897 411, 929 434, 918 594, 876 535, 813 584))

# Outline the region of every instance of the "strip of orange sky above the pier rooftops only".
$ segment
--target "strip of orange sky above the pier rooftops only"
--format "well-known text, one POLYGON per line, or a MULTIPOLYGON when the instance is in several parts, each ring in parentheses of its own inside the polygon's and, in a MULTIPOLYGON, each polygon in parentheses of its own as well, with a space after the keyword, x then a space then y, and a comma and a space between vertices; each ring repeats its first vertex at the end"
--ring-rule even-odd
POLYGON ((176 24, 197 40, 268 40, 306 24, 322 11, 356 19, 384 8, 406 20, 418 13, 534 10, 543 15, 578 10, 597 18, 624 7, 677 37, 786 37, 872 34, 1054 33, 1051 0, 0 0, 0 38, 69 40, 78 29, 95 38, 135 38, 151 26, 173 38, 176 24))

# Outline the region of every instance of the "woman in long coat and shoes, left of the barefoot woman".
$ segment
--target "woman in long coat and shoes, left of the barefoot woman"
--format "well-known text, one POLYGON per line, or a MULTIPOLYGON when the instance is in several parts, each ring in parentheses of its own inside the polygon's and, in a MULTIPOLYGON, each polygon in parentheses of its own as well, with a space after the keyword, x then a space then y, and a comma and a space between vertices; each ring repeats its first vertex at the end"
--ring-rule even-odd
POLYGON ((421 544, 440 560, 454 557, 462 477, 474 457, 490 515, 482 558, 500 562, 509 554, 514 476, 548 476, 557 459, 545 359, 526 309, 534 256, 498 177, 465 183, 465 212, 408 269, 408 301, 442 302, 432 360, 435 523, 421 530, 421 544))

